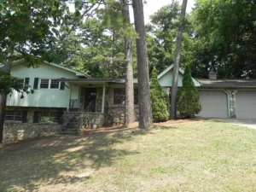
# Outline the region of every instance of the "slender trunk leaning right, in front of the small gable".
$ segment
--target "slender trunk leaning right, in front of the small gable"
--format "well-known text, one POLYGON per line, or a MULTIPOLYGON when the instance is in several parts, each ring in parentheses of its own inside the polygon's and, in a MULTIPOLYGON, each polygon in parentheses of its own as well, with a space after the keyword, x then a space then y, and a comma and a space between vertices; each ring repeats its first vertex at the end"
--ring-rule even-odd
POLYGON ((184 20, 186 15, 186 8, 187 8, 188 0, 183 0, 183 6, 180 15, 180 25, 178 26, 177 32, 177 44, 175 50, 175 60, 174 60, 174 67, 173 67, 173 76, 172 76, 172 101, 171 101, 171 119, 177 118, 177 79, 178 79, 178 68, 180 63, 181 57, 181 47, 183 41, 183 30, 184 30, 184 20))

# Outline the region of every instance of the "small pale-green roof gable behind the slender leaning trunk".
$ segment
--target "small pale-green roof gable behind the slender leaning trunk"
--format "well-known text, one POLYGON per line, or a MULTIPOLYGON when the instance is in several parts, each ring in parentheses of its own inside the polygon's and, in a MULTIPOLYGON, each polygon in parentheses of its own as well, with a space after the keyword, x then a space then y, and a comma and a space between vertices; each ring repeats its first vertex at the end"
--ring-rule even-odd
MULTIPOLYGON (((172 87, 172 73, 173 73, 173 66, 174 64, 172 64, 171 66, 167 67, 165 71, 163 71, 162 73, 160 73, 157 77, 159 79, 159 83, 162 87, 172 87)), ((182 80, 183 80, 183 74, 184 71, 183 69, 181 69, 180 67, 178 68, 178 82, 177 82, 177 86, 181 87, 182 84, 182 80)), ((192 78, 194 84, 196 87, 200 87, 201 83, 199 81, 197 81, 196 79, 192 78)))

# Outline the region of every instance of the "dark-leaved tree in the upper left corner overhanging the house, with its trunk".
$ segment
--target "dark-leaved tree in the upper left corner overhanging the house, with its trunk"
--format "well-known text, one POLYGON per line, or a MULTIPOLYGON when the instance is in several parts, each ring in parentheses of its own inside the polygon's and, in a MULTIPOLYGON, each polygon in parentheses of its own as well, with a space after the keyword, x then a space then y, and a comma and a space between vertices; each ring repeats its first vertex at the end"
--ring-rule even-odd
MULTIPOLYGON (((25 60, 26 67, 49 61, 52 42, 58 35, 56 27, 61 23, 66 9, 66 3, 58 0, 17 0, 0 4, 0 63, 4 65, 1 70, 5 75, 10 73, 15 60, 25 60)), ((9 80, 12 81, 11 78, 9 80)), ((9 85, 13 83, 9 82, 9 85)), ((0 143, 3 142, 5 106, 6 93, 1 93, 0 143)))

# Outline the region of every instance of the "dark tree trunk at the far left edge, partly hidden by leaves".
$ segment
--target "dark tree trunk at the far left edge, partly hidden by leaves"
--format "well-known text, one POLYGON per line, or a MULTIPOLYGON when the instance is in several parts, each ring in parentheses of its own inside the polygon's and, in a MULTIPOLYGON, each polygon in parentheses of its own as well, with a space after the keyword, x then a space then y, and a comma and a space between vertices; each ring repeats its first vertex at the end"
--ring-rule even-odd
MULTIPOLYGON (((11 62, 7 62, 1 71, 10 72, 11 62)), ((6 107, 6 94, 0 94, 0 143, 3 143, 3 124, 4 124, 4 113, 6 107)))

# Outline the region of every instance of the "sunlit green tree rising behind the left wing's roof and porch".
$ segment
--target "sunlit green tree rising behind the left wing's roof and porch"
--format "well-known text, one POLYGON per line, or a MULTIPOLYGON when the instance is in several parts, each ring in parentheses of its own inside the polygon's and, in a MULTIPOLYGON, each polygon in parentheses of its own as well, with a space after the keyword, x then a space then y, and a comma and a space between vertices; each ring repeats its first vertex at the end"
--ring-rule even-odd
MULTIPOLYGON (((79 32, 70 32, 67 38, 60 39, 56 45, 57 57, 67 67, 91 77, 120 78, 125 74, 123 35, 121 30, 107 25, 104 16, 105 13, 99 13, 94 18, 87 18, 76 27, 79 32)), ((63 34, 68 32, 61 30, 63 34)))

